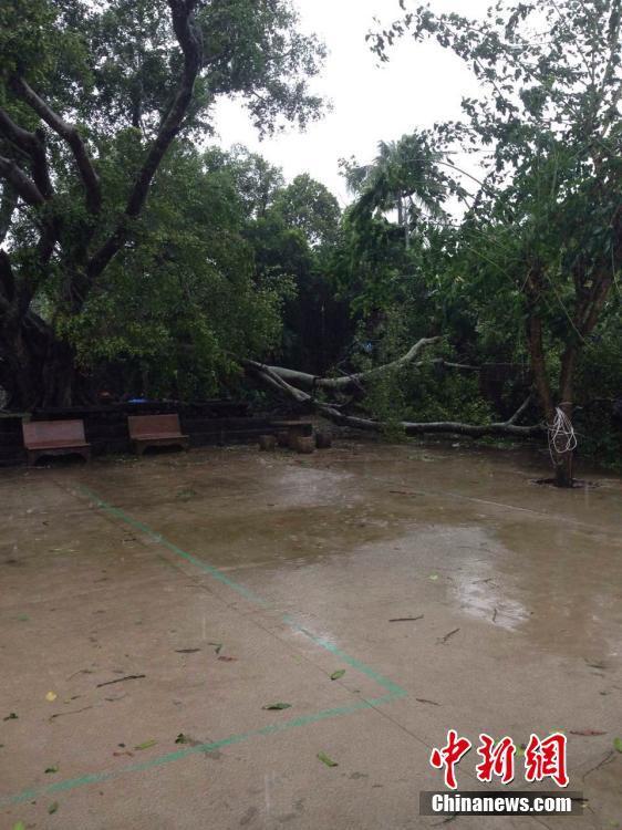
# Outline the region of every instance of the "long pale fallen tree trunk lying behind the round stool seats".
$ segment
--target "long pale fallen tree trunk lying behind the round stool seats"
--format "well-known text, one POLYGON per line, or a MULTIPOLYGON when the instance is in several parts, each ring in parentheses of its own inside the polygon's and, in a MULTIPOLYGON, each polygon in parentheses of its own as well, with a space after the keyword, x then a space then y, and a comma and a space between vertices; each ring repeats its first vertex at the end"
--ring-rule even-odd
MULTIPOLYGON (((419 341, 419 343, 422 342, 423 341, 419 341)), ((413 346, 413 349, 416 349, 416 346, 413 346)), ((413 350, 411 350, 411 352, 413 350)), ((411 354, 411 352, 408 352, 408 354, 411 354)), ((387 364, 387 366, 388 365, 392 364, 387 364)), ((243 361, 243 366, 248 374, 250 374, 252 377, 257 378, 265 385, 269 386, 280 394, 287 395, 298 404, 312 406, 317 412, 326 417, 329 421, 332 421, 334 424, 339 424, 340 426, 349 426, 354 429, 363 429, 365 432, 377 433, 383 429, 383 424, 379 421, 374 421, 373 418, 363 418, 356 415, 348 415, 342 412, 342 409, 335 404, 318 401, 308 392, 304 392, 303 390, 293 386, 291 383, 288 383, 286 376, 290 378, 292 376, 297 376, 298 380, 298 375, 302 374, 300 372, 292 372, 292 370, 286 370, 274 366, 267 366, 266 364, 258 363, 256 361, 243 361)), ((377 374, 380 370, 385 369, 386 366, 379 367, 379 370, 373 370, 373 372, 377 374)), ((370 374, 371 373, 364 373, 364 377, 367 378, 370 374)), ((307 376, 313 377, 313 375, 307 376)), ((351 377, 356 377, 356 375, 352 375, 351 377)), ((362 375, 359 375, 356 383, 359 383, 361 378, 362 375)), ((318 383, 317 380, 314 386, 322 387, 322 384, 318 383)), ((350 377, 340 377, 335 380, 350 381, 350 377)), ((343 387, 346 388, 348 385, 348 383, 344 383, 343 387)), ((335 387, 331 386, 331 388, 334 390, 335 387)), ((542 424, 532 424, 530 426, 519 426, 517 424, 520 416, 527 409, 530 400, 531 396, 529 396, 527 401, 525 401, 525 403, 516 411, 511 418, 496 424, 463 424, 458 421, 433 421, 418 424, 410 421, 402 421, 400 422, 398 426, 402 427, 406 435, 422 435, 423 433, 450 433, 456 435, 467 435, 471 438, 481 438, 486 435, 514 435, 517 437, 528 438, 531 436, 541 435, 545 430, 545 426, 542 424)))

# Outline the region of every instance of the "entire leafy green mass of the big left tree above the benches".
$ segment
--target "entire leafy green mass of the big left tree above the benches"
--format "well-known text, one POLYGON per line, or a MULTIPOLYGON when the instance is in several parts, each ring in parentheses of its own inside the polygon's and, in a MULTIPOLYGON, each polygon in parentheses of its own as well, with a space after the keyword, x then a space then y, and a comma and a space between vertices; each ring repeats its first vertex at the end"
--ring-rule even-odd
MULTIPOLYGON (((321 115, 309 79, 325 50, 298 23, 290 0, 0 6, 2 383, 20 361, 7 309, 69 345, 85 373, 134 387, 148 376, 148 394, 210 394, 242 356, 278 346, 293 273, 263 268, 250 230, 288 194, 282 174, 243 148, 198 147, 222 96, 262 134, 321 115)), ((307 184, 328 235, 332 197, 307 184)), ((281 241, 308 259, 301 234, 286 225, 281 241)))

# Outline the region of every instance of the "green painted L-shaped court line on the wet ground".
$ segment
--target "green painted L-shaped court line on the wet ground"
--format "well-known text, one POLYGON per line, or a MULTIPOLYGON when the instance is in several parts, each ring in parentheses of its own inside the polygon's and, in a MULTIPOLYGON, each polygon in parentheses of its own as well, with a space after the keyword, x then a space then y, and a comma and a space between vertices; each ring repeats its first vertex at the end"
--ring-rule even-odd
MULTIPOLYGON (((169 551, 172 551, 176 556, 180 557, 182 559, 185 559, 187 562, 190 562, 191 564, 196 566, 197 568, 205 571, 206 573, 209 573, 210 577, 214 577, 219 582, 226 584, 228 588, 232 589, 234 591, 242 595, 249 602, 252 602, 256 605, 259 605, 261 608, 272 608, 272 604, 270 602, 262 599, 261 596, 253 593, 252 591, 249 591, 247 588, 245 588, 245 585, 241 585, 239 582, 236 582, 229 579, 221 571, 219 571, 218 568, 215 568, 214 566, 207 562, 204 562, 201 559, 197 559, 197 557, 194 557, 191 553, 188 553, 187 551, 183 550, 176 544, 173 544, 173 542, 169 542, 160 533, 157 533, 155 530, 149 528, 144 522, 138 521, 137 519, 134 519, 132 516, 126 513, 121 508, 115 507, 114 505, 111 505, 107 501, 104 501, 102 498, 100 498, 100 496, 97 496, 95 492, 93 492, 89 488, 81 486, 79 489, 83 495, 87 496, 100 509, 104 510, 111 516, 116 517, 117 519, 121 519, 126 525, 129 525, 136 530, 139 530, 142 533, 145 533, 149 539, 153 539, 157 543, 167 548, 169 551)), ((382 686, 387 692, 387 694, 381 697, 375 697, 371 699, 356 701, 356 703, 350 704, 349 706, 340 706, 340 707, 332 708, 332 709, 322 709, 321 712, 318 712, 312 715, 301 715, 299 717, 291 718, 290 720, 284 720, 282 723, 277 723, 277 724, 270 724, 269 726, 263 726, 259 729, 253 729, 251 732, 240 733, 238 735, 229 735, 229 737, 221 738, 220 740, 215 740, 209 744, 199 744, 193 747, 186 747, 184 749, 178 749, 173 753, 166 753, 165 755, 159 755, 155 758, 151 758, 149 760, 125 765, 124 767, 120 767, 118 769, 103 770, 101 772, 92 772, 92 774, 87 774, 84 776, 80 776, 79 778, 68 778, 63 781, 55 781, 44 787, 22 790, 21 792, 17 792, 11 796, 0 796, 0 807, 9 807, 11 805, 23 803, 24 801, 30 801, 35 798, 41 798, 43 796, 52 796, 58 792, 66 792, 68 790, 72 790, 77 787, 84 787, 91 784, 102 784, 103 781, 108 781, 111 779, 118 778, 121 776, 128 775, 132 772, 144 772, 149 769, 155 769, 156 767, 162 767, 167 764, 172 764, 174 761, 183 760, 184 758, 188 758, 193 755, 199 755, 201 753, 212 753, 222 747, 232 746, 235 744, 241 744, 242 741, 249 740, 250 738, 273 735, 274 733, 286 732, 288 729, 296 729, 301 726, 308 726, 309 724, 317 724, 317 723, 320 723, 321 720, 326 720, 326 719, 334 718, 334 717, 341 717, 344 715, 352 715, 356 712, 361 712, 363 709, 375 708, 376 706, 382 706, 383 704, 391 703, 393 701, 396 701, 401 697, 406 696, 407 694, 406 691, 401 688, 397 684, 393 683, 393 681, 390 681, 388 678, 384 677, 382 674, 379 674, 376 671, 365 665, 364 663, 361 663, 361 661, 356 660, 355 657, 352 657, 345 652, 342 652, 340 649, 338 649, 338 646, 335 646, 333 643, 325 640, 324 637, 319 637, 317 634, 313 634, 308 629, 304 629, 303 626, 299 625, 292 616, 284 614, 282 616, 282 620, 293 631, 304 634, 315 645, 320 646, 321 649, 324 649, 331 654, 334 654, 344 663, 348 663, 350 666, 355 668, 357 672, 361 672, 362 674, 366 675, 371 679, 375 681, 375 683, 382 686)))

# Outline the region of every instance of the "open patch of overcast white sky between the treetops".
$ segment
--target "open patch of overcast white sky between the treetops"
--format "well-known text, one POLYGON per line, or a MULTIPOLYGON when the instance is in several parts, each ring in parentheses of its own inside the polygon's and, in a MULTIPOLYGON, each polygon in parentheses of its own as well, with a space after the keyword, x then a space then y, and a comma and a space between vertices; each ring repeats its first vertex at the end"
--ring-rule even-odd
MULTIPOLYGON (((354 155, 361 163, 376 154, 379 141, 400 138, 416 127, 457 117, 460 98, 478 87, 462 61, 434 43, 405 38, 388 64, 379 66, 365 43, 374 17, 400 17, 397 0, 293 0, 304 31, 325 42, 330 54, 313 89, 332 101, 333 111, 305 133, 290 129, 259 142, 240 104, 221 102, 217 129, 224 146, 245 144, 283 168, 288 179, 310 173, 349 199, 338 162, 354 155)), ((490 0, 431 0, 435 11, 484 14, 490 0), (468 6, 468 9, 465 9, 468 6)))

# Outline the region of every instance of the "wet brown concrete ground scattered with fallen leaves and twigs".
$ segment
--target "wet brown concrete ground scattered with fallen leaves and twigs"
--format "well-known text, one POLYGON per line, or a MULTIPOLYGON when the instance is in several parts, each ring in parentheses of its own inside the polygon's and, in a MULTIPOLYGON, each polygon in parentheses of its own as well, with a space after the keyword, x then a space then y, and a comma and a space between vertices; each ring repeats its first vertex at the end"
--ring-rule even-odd
POLYGON ((0 828, 438 826, 448 728, 562 730, 588 799, 453 828, 622 827, 622 486, 546 473, 356 443, 2 473, 0 828))

